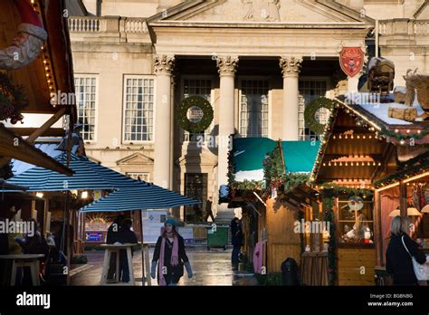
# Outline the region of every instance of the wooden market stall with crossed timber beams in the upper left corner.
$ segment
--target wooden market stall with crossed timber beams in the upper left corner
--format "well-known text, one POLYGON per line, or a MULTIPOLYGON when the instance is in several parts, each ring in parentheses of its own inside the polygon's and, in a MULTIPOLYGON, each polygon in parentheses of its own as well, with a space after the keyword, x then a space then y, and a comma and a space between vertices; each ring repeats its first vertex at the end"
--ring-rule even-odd
MULTIPOLYGON (((22 115, 15 116, 12 119, 13 122, 25 117, 25 114, 48 114, 51 118, 39 128, 18 128, 17 125, 12 127, 8 125, 9 128, 5 128, 4 124, 0 123, 0 167, 5 166, 11 158, 17 158, 36 166, 71 175, 70 169, 31 145, 41 136, 63 136, 64 130, 53 129, 52 125, 64 115, 68 115, 70 132, 76 121, 74 102, 52 104, 52 93, 56 94, 58 91, 66 95, 74 93, 71 44, 67 18, 63 14, 64 0, 50 2, 34 0, 31 4, 42 21, 48 39, 43 43, 41 52, 35 60, 19 69, 0 69, 0 72, 6 73, 14 87, 22 89, 28 101, 27 106, 19 112, 22 115)), ((14 1, 0 2, 0 21, 2 22, 0 29, 4 34, 0 38, 0 47, 8 47, 14 43, 18 26, 22 23, 20 14, 22 15, 22 12, 15 7, 14 1)))

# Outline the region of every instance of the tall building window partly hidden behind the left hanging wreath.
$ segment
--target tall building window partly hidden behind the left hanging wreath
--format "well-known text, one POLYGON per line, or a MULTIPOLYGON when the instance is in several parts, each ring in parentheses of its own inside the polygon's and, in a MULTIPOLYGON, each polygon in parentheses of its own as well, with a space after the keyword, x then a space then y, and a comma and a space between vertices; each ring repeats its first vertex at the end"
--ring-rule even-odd
MULTIPOLYGON (((212 103, 212 80, 210 79, 184 79, 183 81, 183 98, 186 99, 189 96, 201 96, 212 103)), ((196 142, 201 138, 204 138, 204 141, 207 140, 207 136, 210 135, 213 129, 212 124, 205 129, 204 133, 190 133, 184 131, 183 141, 196 142)))

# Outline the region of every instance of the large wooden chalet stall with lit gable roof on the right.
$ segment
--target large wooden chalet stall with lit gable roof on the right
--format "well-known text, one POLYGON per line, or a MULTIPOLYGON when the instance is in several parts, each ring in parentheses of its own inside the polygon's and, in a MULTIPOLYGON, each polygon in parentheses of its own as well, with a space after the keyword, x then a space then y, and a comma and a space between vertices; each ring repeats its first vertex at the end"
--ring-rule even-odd
MULTIPOLYGON (((429 201, 428 122, 390 118, 389 108, 405 106, 395 103, 393 94, 381 102, 357 94, 334 100, 310 178, 324 201, 333 198, 330 263, 338 285, 375 284, 375 269, 386 263, 389 215, 397 206, 397 215, 407 209, 410 215, 411 207, 421 211, 429 201)), ((417 101, 410 108, 423 111, 417 101)), ((416 215, 421 238, 427 237, 425 221, 425 215, 416 215)))

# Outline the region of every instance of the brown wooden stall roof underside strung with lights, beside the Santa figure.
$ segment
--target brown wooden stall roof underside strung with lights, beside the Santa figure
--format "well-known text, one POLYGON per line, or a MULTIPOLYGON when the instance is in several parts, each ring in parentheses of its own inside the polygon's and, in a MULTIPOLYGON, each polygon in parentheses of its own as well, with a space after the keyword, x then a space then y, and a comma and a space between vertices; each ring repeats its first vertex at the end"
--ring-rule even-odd
MULTIPOLYGON (((43 51, 36 60, 24 68, 7 73, 12 77, 15 85, 24 87, 25 95, 29 100, 29 105, 24 112, 54 114, 65 107, 66 113, 71 114, 71 123, 74 123, 75 104, 56 107, 51 104, 52 91, 74 92, 71 43, 67 17, 63 14, 64 0, 34 0, 32 4, 35 11, 42 17, 43 27, 48 33, 47 43, 43 45, 43 51), (48 67, 47 71, 46 67, 48 67), (51 79, 52 90, 50 90, 47 79, 51 79)), ((7 47, 13 43, 18 25, 21 24, 21 18, 17 14, 12 0, 0 1, 0 21, 4 27, 4 33, 0 37, 0 46, 7 47)))

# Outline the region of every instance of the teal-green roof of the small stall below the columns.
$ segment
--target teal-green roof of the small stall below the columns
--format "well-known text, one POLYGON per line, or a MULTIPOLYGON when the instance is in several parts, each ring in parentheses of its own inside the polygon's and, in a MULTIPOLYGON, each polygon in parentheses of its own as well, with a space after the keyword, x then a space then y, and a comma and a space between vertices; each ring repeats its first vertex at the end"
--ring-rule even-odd
MULTIPOLYGON (((235 181, 262 180, 263 160, 275 148, 271 138, 234 138, 235 181)), ((314 164, 319 141, 281 141, 287 172, 308 173, 314 164)))

